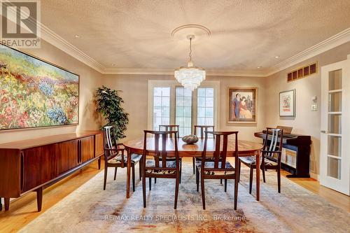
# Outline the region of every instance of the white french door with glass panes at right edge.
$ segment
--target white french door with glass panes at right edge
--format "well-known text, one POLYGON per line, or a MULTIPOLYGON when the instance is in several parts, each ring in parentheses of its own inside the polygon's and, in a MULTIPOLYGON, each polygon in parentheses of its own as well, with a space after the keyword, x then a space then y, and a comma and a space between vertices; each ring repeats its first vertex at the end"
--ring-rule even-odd
POLYGON ((320 183, 350 195, 350 59, 321 68, 320 183))

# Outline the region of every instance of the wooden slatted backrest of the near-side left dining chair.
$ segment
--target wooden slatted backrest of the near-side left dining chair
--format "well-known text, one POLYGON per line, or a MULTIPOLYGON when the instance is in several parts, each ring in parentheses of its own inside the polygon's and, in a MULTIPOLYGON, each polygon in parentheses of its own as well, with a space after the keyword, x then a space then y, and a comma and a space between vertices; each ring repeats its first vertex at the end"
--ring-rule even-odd
MULTIPOLYGON (((154 136, 154 159, 155 159, 155 167, 156 168, 167 168, 167 157, 176 157, 176 166, 179 167, 179 150, 177 146, 178 141, 178 134, 177 131, 152 131, 152 130, 144 130, 144 153, 143 153, 143 161, 146 162, 146 156, 147 153, 147 137, 148 134, 151 134, 154 136), (169 135, 172 134, 172 137, 169 135), (174 136, 174 139, 173 139, 174 136), (167 140, 174 141, 174 148, 175 148, 175 156, 167 155, 167 140), (160 160, 162 161, 162 167, 160 167, 160 160)), ((144 163, 144 166, 146 164, 144 163)))

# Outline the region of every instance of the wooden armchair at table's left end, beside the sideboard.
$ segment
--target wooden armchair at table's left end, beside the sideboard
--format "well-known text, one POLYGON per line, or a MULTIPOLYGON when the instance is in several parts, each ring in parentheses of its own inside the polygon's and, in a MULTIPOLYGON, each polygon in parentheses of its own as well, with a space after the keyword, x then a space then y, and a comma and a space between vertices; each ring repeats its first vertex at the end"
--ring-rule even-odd
MULTIPOLYGON (((114 181, 117 178, 118 167, 127 167, 127 155, 123 143, 117 143, 116 137, 113 136, 114 126, 104 127, 104 190, 106 190, 107 171, 109 167, 114 167, 114 181)), ((135 192, 135 164, 141 163, 142 155, 132 154, 132 190, 135 192)), ((139 164, 139 175, 141 180, 141 167, 139 164)))

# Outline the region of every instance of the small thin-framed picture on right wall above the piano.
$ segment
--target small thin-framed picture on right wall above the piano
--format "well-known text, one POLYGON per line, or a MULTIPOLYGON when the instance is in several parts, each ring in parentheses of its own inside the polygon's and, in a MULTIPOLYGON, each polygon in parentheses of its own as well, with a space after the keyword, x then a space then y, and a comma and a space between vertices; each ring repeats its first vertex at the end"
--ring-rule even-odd
POLYGON ((295 117, 295 90, 279 92, 279 116, 295 117))

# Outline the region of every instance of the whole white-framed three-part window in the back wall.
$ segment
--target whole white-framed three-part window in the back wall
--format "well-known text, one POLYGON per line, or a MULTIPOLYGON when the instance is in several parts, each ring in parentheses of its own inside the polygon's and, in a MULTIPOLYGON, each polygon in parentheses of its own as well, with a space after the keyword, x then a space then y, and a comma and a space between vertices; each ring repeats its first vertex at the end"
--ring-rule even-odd
POLYGON ((206 80, 193 92, 176 80, 148 80, 148 129, 179 125, 179 136, 193 133, 193 125, 218 129, 220 82, 206 80))

